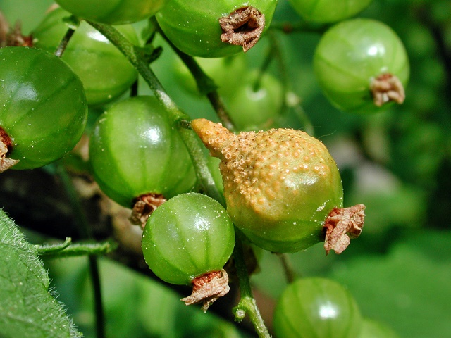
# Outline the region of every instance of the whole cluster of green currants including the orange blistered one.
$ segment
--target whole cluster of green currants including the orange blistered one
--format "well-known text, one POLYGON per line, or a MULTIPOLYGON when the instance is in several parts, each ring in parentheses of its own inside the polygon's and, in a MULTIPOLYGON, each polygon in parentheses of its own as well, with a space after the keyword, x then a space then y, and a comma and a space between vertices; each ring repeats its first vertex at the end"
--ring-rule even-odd
MULTIPOLYGON (((0 49, 0 173, 52 163, 85 133, 88 175, 132 209, 149 268, 165 282, 192 284, 183 301, 202 303, 204 311, 229 290, 224 266, 242 234, 276 253, 319 242, 326 253, 341 253, 359 236, 365 206, 343 206, 326 146, 284 124, 291 89, 266 66, 248 70, 243 61, 268 34, 277 0, 57 2, 61 8, 27 39, 32 46, 17 46, 20 36, 0 41, 7 45, 0 49), (149 20, 147 44, 130 25, 141 20, 149 20), (218 88, 191 72, 216 111, 230 111, 218 114, 228 128, 178 111, 148 67, 161 53, 155 36, 213 75, 218 88), (139 73, 149 84, 145 94, 139 73), (99 107, 103 113, 86 128, 88 107, 89 116, 99 107), (207 160, 199 139, 218 161, 207 160), (211 177, 216 187, 205 183, 211 177), (207 196, 211 190, 218 201, 207 196)), ((402 104, 409 78, 402 42, 383 23, 351 18, 371 0, 335 2, 290 0, 305 23, 326 31, 312 68, 324 94, 361 114, 402 104)), ((178 85, 197 95, 177 62, 178 85)), ((274 316, 278 337, 352 338, 365 337, 362 327, 376 330, 363 323, 350 293, 322 279, 290 284, 274 316)))

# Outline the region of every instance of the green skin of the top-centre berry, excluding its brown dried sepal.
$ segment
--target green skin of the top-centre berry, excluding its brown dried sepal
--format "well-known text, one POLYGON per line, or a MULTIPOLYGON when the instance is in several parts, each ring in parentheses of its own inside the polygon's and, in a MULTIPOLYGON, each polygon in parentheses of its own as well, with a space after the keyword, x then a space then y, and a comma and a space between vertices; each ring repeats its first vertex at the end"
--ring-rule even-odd
POLYGON ((242 46, 221 41, 219 18, 237 8, 252 6, 265 15, 269 27, 277 0, 171 0, 155 17, 164 34, 178 49, 191 56, 220 58, 240 53, 242 46))

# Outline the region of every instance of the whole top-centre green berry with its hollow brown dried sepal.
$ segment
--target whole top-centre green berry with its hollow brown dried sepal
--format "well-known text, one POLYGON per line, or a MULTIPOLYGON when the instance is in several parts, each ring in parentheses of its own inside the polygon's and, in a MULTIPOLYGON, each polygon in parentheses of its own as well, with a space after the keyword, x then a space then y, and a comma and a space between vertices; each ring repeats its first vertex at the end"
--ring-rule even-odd
POLYGON ((277 0, 171 0, 155 17, 164 34, 191 56, 221 58, 248 51, 269 27, 277 0))

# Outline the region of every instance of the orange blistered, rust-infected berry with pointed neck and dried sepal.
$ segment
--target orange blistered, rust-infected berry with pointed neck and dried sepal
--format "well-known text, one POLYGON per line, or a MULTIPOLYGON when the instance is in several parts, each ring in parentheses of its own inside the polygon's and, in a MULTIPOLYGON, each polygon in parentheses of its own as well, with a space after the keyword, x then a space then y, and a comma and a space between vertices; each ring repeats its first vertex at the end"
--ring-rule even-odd
POLYGON ((227 211, 257 246, 295 252, 324 241, 326 253, 341 253, 362 231, 365 206, 342 208, 340 173, 318 139, 292 129, 235 135, 205 119, 191 125, 221 159, 227 211))

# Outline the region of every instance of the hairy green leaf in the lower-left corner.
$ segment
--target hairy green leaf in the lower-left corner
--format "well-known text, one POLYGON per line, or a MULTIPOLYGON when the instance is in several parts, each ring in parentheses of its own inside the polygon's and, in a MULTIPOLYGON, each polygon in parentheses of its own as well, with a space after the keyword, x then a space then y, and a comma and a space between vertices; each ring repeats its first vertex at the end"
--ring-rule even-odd
POLYGON ((0 209, 0 336, 82 337, 49 292, 35 246, 0 209))

